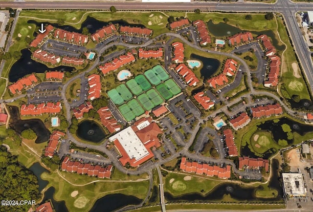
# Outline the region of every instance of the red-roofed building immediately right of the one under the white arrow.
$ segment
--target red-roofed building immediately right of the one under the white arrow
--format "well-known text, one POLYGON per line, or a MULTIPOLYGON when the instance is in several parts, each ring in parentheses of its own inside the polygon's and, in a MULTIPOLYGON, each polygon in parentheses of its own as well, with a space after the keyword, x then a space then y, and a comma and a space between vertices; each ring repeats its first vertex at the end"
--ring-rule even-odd
POLYGON ((88 36, 77 32, 68 32, 63 29, 56 29, 54 31, 54 37, 64 40, 66 42, 73 42, 76 44, 84 44, 88 42, 88 36))

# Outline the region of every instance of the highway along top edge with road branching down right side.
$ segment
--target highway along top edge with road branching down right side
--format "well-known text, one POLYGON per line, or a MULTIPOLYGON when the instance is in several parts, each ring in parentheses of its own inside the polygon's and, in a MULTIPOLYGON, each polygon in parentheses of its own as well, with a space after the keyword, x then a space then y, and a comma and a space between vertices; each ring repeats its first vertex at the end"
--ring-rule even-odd
POLYGON ((112 4, 117 10, 186 10, 193 11, 199 8, 201 11, 224 11, 224 12, 280 12, 283 14, 287 28, 289 30, 291 40, 295 51, 298 55, 302 68, 309 81, 312 91, 313 85, 313 64, 311 52, 298 27, 295 13, 297 11, 308 11, 313 9, 311 3, 294 3, 290 0, 277 0, 274 4, 266 4, 260 2, 235 2, 235 3, 220 3, 220 2, 202 2, 192 1, 191 3, 142 3, 142 2, 75 2, 75 1, 0 1, 1 7, 12 7, 19 9, 96 9, 108 10, 112 4))

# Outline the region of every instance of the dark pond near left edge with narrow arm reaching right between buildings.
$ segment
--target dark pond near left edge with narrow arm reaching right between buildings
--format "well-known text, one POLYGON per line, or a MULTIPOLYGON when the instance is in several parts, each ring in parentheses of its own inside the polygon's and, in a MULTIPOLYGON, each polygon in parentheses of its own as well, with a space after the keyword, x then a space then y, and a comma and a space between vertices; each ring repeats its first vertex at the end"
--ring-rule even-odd
POLYGON ((69 66, 58 66, 55 68, 48 68, 45 64, 41 64, 37 61, 31 59, 31 51, 27 48, 21 50, 22 57, 15 62, 9 72, 9 81, 15 83, 20 78, 24 77, 27 74, 35 73, 44 73, 45 71, 72 71, 73 67, 69 66))

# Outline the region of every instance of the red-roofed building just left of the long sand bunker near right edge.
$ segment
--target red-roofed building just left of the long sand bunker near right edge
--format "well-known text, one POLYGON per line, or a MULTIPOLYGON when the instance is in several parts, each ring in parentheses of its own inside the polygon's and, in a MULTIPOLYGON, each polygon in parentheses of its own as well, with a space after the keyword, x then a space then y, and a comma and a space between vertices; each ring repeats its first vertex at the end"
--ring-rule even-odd
POLYGON ((269 56, 268 59, 270 60, 269 64, 269 72, 268 72, 268 80, 264 81, 265 87, 277 86, 278 84, 278 76, 280 70, 280 57, 277 55, 269 56))

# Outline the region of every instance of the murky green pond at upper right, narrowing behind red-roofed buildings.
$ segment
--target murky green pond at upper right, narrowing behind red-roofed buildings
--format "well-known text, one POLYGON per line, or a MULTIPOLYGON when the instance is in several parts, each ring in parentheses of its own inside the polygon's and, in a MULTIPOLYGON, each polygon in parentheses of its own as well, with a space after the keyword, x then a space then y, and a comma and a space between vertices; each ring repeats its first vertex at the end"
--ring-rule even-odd
MULTIPOLYGON (((231 26, 224 22, 219 22, 217 24, 214 24, 212 20, 207 22, 207 26, 208 26, 209 32, 212 33, 216 37, 229 37, 231 35, 235 35, 241 32, 247 32, 247 30, 242 30, 238 27, 231 26)), ((261 34, 265 34, 271 39, 273 45, 275 46, 277 50, 279 51, 285 50, 286 46, 284 44, 278 45, 278 40, 276 39, 275 33, 272 30, 249 31, 249 32, 257 36, 261 34)))

